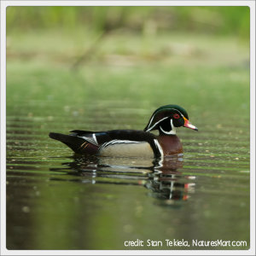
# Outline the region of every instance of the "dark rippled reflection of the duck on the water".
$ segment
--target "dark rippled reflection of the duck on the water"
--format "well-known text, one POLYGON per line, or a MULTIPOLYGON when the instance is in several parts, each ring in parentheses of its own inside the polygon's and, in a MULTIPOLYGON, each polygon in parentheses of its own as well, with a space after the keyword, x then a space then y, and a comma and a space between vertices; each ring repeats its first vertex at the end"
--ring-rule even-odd
POLYGON ((75 180, 83 183, 144 186, 150 191, 148 195, 169 203, 186 201, 195 190, 195 177, 183 175, 178 171, 183 167, 183 154, 172 155, 164 160, 84 157, 74 154, 72 162, 62 165, 67 168, 50 170, 60 172, 68 170, 69 175, 84 177, 75 180))

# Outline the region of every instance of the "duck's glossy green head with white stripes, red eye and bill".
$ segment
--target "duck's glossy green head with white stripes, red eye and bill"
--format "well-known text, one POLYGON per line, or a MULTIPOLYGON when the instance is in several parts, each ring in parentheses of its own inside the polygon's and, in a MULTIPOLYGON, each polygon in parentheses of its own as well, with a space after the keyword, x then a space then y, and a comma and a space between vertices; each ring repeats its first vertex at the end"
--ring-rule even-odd
POLYGON ((159 130, 160 134, 174 135, 176 128, 181 126, 198 131, 195 125, 189 122, 189 115, 184 108, 166 105, 154 111, 144 131, 159 130))

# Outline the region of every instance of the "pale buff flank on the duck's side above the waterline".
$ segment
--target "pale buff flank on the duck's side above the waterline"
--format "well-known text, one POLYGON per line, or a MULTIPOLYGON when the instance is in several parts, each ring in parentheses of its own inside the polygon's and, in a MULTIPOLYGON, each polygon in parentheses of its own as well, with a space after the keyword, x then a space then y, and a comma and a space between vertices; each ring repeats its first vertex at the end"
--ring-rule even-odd
POLYGON ((154 152, 148 143, 114 143, 100 150, 102 156, 146 157, 154 158, 154 152))

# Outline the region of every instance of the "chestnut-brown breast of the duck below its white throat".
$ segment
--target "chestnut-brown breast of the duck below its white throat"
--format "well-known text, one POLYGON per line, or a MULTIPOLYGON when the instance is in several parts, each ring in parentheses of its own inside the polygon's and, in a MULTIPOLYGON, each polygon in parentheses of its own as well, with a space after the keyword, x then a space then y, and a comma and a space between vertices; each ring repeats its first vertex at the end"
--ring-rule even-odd
POLYGON ((183 145, 176 135, 163 135, 158 137, 160 146, 163 148, 165 155, 182 154, 183 145))

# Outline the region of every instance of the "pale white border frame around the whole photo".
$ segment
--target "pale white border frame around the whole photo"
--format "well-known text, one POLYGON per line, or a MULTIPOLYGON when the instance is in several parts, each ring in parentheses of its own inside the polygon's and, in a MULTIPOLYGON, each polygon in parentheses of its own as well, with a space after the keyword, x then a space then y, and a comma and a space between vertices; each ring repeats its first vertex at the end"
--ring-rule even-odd
POLYGON ((255 255, 255 2, 240 1, 9 1, 1 2, 1 255, 255 255), (248 6, 250 8, 250 249, 249 250, 7 250, 6 249, 6 8, 8 6, 248 6))

